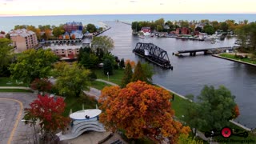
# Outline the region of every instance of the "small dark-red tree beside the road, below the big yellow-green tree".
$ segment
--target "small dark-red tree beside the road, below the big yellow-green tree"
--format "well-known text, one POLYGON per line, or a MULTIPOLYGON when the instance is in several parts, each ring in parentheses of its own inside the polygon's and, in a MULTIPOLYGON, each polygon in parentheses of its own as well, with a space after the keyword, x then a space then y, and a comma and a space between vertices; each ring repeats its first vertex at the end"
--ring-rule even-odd
POLYGON ((52 88, 52 83, 47 79, 47 78, 35 78, 33 82, 31 82, 31 88, 33 90, 38 90, 39 91, 47 91, 51 90, 52 88))

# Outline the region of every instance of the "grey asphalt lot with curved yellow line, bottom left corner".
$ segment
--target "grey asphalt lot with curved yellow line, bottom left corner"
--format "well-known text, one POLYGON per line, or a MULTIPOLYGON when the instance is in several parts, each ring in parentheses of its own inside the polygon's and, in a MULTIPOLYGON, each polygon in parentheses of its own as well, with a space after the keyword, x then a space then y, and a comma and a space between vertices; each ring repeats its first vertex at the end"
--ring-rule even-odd
POLYGON ((0 93, 0 143, 33 143, 34 129, 21 122, 33 93, 0 93))

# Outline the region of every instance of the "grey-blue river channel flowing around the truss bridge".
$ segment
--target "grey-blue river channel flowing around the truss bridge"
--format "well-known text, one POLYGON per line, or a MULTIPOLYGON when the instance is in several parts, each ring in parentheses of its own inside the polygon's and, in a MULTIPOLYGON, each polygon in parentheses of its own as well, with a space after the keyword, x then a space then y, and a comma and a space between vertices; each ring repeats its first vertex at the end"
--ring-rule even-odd
POLYGON ((145 62, 132 53, 137 42, 151 42, 166 50, 174 70, 162 70, 154 66, 153 82, 158 83, 178 94, 200 94, 203 86, 226 86, 235 95, 240 109, 240 116, 235 120, 248 128, 256 128, 256 67, 238 62, 230 62, 210 55, 197 54, 195 57, 178 58, 172 53, 178 50, 214 48, 234 46, 235 39, 225 39, 214 44, 175 38, 138 38, 133 36, 130 25, 122 22, 106 22, 112 28, 102 35, 114 39, 113 54, 125 58, 145 62))

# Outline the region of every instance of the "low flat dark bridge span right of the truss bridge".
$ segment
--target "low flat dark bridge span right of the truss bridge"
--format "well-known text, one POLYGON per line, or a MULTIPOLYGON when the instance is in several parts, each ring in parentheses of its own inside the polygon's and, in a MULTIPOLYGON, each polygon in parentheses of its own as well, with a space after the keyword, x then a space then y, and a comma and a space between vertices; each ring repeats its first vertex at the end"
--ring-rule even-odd
POLYGON ((194 49, 194 50, 178 50, 178 53, 176 53, 176 56, 180 56, 181 54, 189 53, 190 56, 195 56, 197 52, 203 52, 206 54, 218 54, 225 52, 226 50, 235 50, 238 47, 216 47, 216 48, 207 48, 207 49, 194 49))

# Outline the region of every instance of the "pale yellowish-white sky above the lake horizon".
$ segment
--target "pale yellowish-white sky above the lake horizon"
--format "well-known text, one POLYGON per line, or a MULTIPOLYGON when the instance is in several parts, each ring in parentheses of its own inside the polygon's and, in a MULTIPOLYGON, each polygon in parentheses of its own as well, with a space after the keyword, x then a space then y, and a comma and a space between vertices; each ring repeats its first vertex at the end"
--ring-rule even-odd
POLYGON ((256 0, 0 0, 0 16, 256 14, 256 0))

